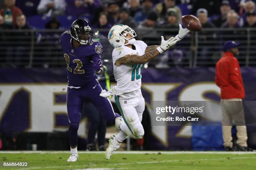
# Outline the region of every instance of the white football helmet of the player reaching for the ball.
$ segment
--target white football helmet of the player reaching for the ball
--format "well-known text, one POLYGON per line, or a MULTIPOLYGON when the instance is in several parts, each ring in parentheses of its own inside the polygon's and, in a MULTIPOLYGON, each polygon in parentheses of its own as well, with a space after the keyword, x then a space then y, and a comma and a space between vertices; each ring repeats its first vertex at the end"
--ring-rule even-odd
POLYGON ((136 32, 129 26, 118 24, 114 25, 108 32, 108 41, 114 48, 116 48, 121 45, 133 44, 135 42, 134 37, 136 36, 136 32), (130 33, 132 37, 125 38, 128 33, 130 33), (125 40, 128 40, 128 43, 125 44, 125 40))

